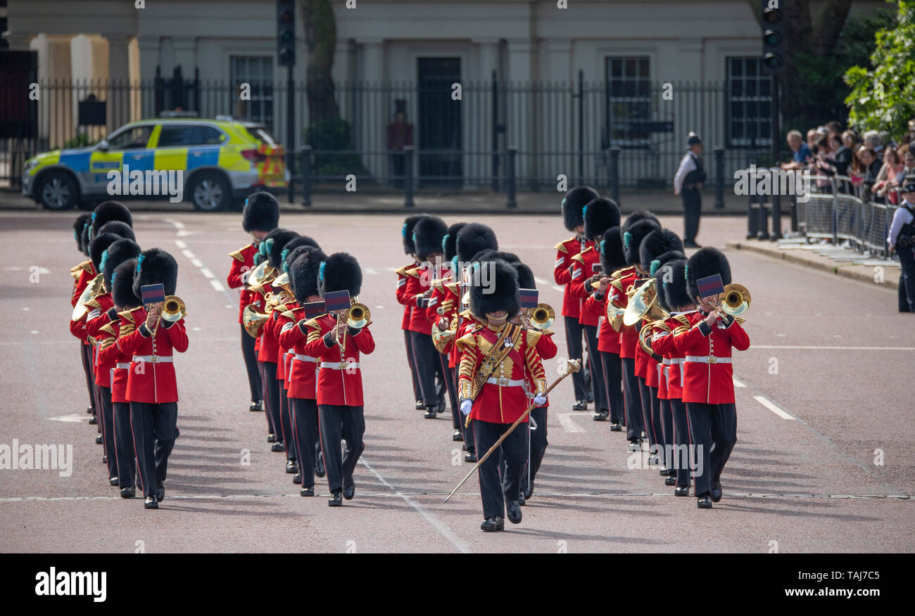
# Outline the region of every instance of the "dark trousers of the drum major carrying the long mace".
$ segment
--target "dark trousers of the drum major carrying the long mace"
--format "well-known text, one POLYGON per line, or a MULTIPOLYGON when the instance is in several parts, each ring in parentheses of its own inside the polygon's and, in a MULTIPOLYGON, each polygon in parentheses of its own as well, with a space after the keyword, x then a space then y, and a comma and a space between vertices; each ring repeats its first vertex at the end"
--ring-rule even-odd
MULTIPOLYGON (((480 420, 472 420, 471 424, 480 455, 490 451, 490 447, 511 427, 511 423, 490 423, 480 420)), ((479 493, 483 501, 484 519, 505 517, 505 499, 517 501, 519 498, 522 471, 527 462, 525 432, 526 430, 520 429, 512 431, 500 445, 501 456, 493 453, 479 466, 479 493), (505 462, 504 481, 499 476, 500 462, 505 462)))

